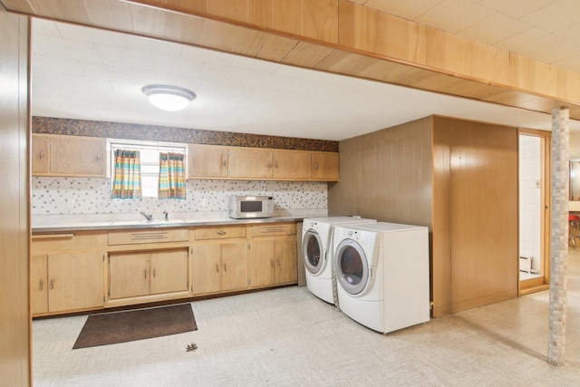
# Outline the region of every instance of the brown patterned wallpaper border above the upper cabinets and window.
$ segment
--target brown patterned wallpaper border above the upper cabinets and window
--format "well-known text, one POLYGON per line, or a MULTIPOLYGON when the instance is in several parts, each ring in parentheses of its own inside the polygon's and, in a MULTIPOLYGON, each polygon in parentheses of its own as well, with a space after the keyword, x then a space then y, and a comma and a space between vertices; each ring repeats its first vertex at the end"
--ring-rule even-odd
POLYGON ((52 117, 33 117, 33 132, 70 136, 104 137, 126 140, 158 140, 169 142, 227 145, 235 147, 273 148, 281 150, 319 150, 338 152, 338 141, 297 139, 230 131, 202 131, 199 129, 134 123, 85 121, 52 117))

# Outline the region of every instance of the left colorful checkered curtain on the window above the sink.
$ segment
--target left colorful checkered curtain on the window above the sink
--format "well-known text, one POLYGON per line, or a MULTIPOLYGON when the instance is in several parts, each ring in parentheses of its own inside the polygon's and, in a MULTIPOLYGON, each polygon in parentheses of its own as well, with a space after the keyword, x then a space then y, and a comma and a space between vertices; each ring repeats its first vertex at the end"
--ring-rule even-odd
POLYGON ((141 198, 139 150, 115 150, 115 177, 111 198, 141 198))

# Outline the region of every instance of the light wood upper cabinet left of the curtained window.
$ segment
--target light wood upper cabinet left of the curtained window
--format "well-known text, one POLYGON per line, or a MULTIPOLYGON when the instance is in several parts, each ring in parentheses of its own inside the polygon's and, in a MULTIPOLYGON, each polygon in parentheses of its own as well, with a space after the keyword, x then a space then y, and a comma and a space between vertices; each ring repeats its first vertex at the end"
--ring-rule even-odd
POLYGON ((33 135, 35 176, 106 176, 106 140, 97 137, 33 135))

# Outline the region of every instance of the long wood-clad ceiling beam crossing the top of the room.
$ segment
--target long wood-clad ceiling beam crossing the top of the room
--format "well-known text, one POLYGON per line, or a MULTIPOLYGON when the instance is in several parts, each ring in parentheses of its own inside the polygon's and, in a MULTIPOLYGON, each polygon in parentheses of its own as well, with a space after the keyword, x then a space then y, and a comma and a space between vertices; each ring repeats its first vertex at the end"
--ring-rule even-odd
POLYGON ((580 74, 347 0, 0 0, 13 12, 580 119, 580 74))

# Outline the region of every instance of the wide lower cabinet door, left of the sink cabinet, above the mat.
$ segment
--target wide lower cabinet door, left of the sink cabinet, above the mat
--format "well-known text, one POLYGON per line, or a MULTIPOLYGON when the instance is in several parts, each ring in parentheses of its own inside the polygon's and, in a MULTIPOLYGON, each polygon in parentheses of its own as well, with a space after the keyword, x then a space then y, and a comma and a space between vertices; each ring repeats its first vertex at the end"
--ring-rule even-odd
POLYGON ((50 312, 104 305, 103 256, 100 252, 48 256, 50 312))

